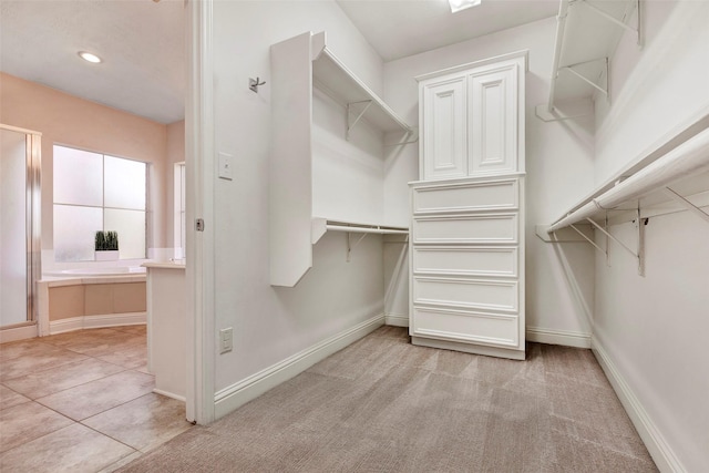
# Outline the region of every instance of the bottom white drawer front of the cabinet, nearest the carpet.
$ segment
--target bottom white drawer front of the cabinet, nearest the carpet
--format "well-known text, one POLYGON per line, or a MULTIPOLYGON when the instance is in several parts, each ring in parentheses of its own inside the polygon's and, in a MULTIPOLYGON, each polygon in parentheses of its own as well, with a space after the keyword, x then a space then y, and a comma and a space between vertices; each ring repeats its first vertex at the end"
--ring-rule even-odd
POLYGON ((413 308, 412 335, 453 341, 518 348, 516 316, 413 308))

